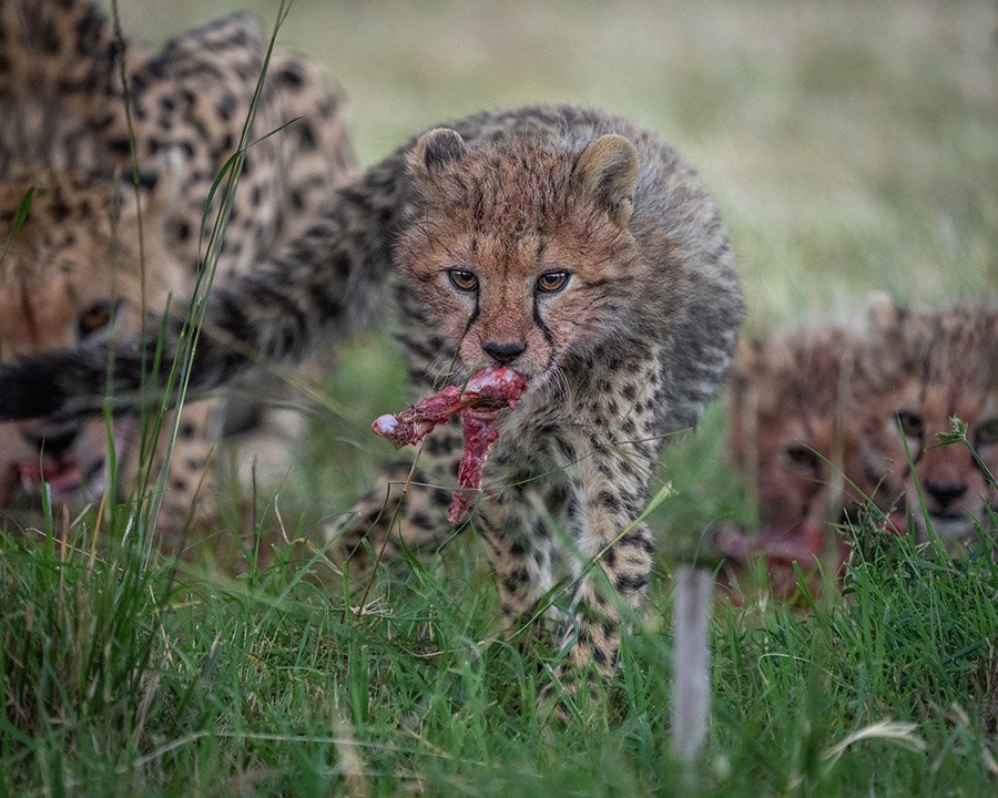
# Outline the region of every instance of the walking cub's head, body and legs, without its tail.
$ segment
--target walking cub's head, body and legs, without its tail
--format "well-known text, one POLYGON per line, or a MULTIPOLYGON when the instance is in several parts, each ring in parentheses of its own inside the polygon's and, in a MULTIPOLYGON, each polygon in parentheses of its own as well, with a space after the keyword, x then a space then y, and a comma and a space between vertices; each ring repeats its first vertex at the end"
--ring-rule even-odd
MULTIPOLYGON (((652 540, 638 518, 651 472, 723 377, 741 313, 720 221, 675 153, 621 120, 481 143, 440 129, 406 161, 414 191, 395 256, 420 396, 488 365, 530 386, 500 417, 492 490, 472 521, 507 627, 567 579, 571 661, 609 669, 619 608, 580 574, 599 563, 630 603, 648 582, 652 540)), ((439 484, 460 453, 457 422, 436 430, 414 482, 439 484)), ((447 530, 448 492, 410 489, 399 504, 393 475, 340 530, 361 567, 386 533, 418 548, 447 530), (357 545, 365 534, 373 544, 357 545)))

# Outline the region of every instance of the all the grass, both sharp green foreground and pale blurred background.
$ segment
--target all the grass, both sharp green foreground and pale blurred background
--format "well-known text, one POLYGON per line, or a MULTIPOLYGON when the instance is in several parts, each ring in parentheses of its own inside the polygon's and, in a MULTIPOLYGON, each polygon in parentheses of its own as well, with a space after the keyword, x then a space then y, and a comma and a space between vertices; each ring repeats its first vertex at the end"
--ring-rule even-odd
MULTIPOLYGON (((123 6, 124 29, 153 41, 244 7, 123 6)), ((272 22, 273 3, 245 7, 272 22)), ((717 197, 761 331, 855 313, 874 289, 925 305, 994 291, 995 25, 988 2, 295 0, 279 41, 344 82, 364 163, 448 117, 539 100, 660 131, 717 197)), ((328 392, 342 412, 252 521, 216 498, 211 532, 247 563, 235 576, 146 561, 126 510, 99 532, 92 514, 0 523, 0 796, 994 792, 989 557, 859 529, 847 598, 719 606, 711 735, 686 773, 669 754, 670 572, 748 513, 720 406, 663 460, 663 555, 619 674, 546 727, 552 656, 503 642, 473 535, 363 607, 338 587, 309 541, 388 452, 368 424, 407 398, 389 337, 345 351, 328 392)))

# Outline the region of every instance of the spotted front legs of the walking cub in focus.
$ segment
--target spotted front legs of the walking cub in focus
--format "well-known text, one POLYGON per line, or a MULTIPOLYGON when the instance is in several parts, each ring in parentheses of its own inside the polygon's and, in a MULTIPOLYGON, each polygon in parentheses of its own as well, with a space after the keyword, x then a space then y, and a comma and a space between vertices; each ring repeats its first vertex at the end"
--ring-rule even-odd
POLYGON ((566 682, 571 669, 590 663, 612 673, 621 612, 611 594, 637 606, 652 566, 651 532, 635 519, 644 508, 658 448, 651 441, 593 446, 585 429, 556 436, 551 448, 567 461, 548 468, 549 477, 557 477, 548 489, 538 490, 536 483, 533 489, 507 488, 479 502, 475 516, 508 633, 518 632, 537 610, 554 584, 553 570, 568 565, 573 617, 563 642, 571 647, 558 671, 566 682), (560 529, 550 526, 552 519, 560 529))

